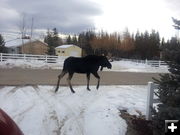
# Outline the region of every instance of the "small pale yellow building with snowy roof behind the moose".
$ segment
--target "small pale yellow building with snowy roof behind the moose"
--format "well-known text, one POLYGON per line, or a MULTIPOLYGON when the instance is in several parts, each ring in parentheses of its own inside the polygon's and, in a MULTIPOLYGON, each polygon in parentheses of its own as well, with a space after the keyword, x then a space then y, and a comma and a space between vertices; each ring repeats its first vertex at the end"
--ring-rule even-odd
POLYGON ((58 56, 76 56, 81 57, 82 49, 76 45, 61 45, 55 48, 56 55, 58 56))

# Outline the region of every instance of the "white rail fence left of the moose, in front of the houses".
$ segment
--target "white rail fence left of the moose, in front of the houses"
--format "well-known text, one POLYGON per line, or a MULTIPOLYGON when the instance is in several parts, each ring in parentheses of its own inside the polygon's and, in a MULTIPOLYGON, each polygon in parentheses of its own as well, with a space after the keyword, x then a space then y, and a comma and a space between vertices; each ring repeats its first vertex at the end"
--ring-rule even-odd
POLYGON ((38 60, 44 61, 46 63, 57 63, 58 56, 49 56, 49 55, 32 55, 32 54, 8 54, 8 53, 0 53, 0 62, 11 60, 38 60))

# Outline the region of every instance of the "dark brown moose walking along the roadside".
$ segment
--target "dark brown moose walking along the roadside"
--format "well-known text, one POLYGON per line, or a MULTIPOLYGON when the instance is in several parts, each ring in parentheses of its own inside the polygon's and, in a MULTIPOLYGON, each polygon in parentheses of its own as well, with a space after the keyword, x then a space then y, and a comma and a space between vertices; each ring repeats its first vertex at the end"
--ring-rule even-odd
POLYGON ((55 92, 58 91, 60 80, 63 78, 63 76, 66 73, 69 74, 67 78, 67 82, 72 93, 75 93, 71 85, 71 79, 74 73, 86 74, 87 90, 89 91, 90 91, 89 80, 90 80, 90 74, 92 73, 98 79, 97 86, 96 86, 96 89, 98 89, 100 76, 98 75, 97 71, 99 67, 101 67, 100 70, 102 71, 103 67, 107 67, 111 69, 112 65, 108 61, 106 56, 88 55, 82 58, 68 57, 67 59, 65 59, 62 72, 58 76, 58 82, 57 82, 57 87, 55 89, 55 92))

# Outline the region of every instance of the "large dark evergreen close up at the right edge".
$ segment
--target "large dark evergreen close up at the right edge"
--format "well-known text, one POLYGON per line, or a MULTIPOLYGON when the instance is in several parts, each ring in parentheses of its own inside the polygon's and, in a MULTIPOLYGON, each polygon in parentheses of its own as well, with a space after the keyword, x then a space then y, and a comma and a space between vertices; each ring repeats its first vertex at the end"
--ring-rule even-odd
POLYGON ((169 45, 173 45, 166 49, 170 73, 161 75, 160 80, 155 79, 155 82, 159 84, 155 94, 161 102, 157 105, 157 110, 153 110, 155 135, 164 134, 164 120, 180 119, 180 43, 173 40, 169 42, 169 45))

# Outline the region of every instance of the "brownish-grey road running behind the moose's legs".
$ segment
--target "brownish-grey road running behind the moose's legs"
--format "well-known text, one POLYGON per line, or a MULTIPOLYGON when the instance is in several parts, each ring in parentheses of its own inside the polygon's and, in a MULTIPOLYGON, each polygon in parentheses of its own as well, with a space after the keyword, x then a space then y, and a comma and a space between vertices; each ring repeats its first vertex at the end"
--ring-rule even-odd
MULTIPOLYGON (((0 85, 55 85, 61 70, 51 69, 0 69, 0 85)), ((159 73, 132 73, 132 72, 99 72, 100 84, 103 85, 146 85, 152 77, 159 78, 159 73)), ((61 85, 67 85, 67 75, 61 85)), ((95 85, 96 78, 91 75, 90 84, 95 85)), ((74 74, 73 85, 86 85, 86 75, 74 74)))

